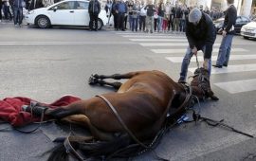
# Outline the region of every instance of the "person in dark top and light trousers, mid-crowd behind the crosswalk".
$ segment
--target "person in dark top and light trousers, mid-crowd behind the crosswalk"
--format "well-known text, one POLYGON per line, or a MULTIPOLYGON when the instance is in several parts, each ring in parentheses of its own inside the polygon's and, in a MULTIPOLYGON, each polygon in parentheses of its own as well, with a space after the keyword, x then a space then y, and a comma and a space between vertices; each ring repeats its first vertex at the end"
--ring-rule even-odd
POLYGON ((145 7, 145 9, 147 9, 147 31, 153 33, 155 5, 153 5, 152 0, 148 1, 148 5, 145 7))

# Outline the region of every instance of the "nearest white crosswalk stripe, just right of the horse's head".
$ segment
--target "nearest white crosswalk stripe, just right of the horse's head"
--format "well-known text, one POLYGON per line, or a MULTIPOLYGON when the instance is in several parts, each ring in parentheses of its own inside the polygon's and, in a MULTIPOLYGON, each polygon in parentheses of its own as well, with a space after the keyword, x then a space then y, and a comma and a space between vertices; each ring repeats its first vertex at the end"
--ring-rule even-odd
POLYGON ((214 83, 214 85, 228 91, 230 94, 237 94, 241 92, 256 90, 256 79, 217 82, 217 83, 214 83))

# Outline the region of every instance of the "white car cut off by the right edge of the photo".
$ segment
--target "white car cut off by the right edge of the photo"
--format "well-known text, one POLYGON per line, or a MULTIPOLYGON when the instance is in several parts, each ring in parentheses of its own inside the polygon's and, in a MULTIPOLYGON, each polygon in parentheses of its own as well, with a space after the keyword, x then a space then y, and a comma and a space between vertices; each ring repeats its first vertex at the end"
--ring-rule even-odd
POLYGON ((243 26, 240 34, 244 36, 245 39, 256 38, 256 18, 254 18, 254 20, 247 25, 243 26))

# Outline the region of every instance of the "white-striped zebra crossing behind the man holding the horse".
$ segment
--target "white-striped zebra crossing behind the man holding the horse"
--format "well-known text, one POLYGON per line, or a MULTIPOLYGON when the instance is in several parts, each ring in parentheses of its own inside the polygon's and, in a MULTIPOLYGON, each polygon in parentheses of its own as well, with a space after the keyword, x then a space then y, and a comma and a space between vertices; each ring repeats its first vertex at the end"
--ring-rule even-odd
MULTIPOLYGON (((146 34, 137 32, 117 32, 120 36, 127 38, 132 42, 136 42, 138 45, 147 47, 155 54, 168 54, 169 57, 165 57, 166 60, 172 63, 179 63, 181 65, 183 56, 185 55, 186 48, 189 45, 185 35, 172 35, 166 33, 159 34, 146 34), (159 47, 159 48, 157 48, 159 47), (172 54, 182 54, 179 57, 172 56, 172 54)), ((211 60, 214 62, 217 60, 217 53, 221 42, 215 42, 212 49, 211 60)), ((235 45, 255 45, 254 42, 238 42, 235 45)), ((201 51, 199 51, 201 52, 201 51)), ((229 61, 244 61, 250 60, 255 63, 244 63, 244 64, 230 64, 229 67, 223 68, 211 68, 211 77, 217 76, 218 74, 232 74, 232 73, 243 73, 243 72, 255 72, 256 71, 256 54, 252 54, 251 51, 241 48, 232 47, 231 52, 234 54, 230 55, 229 61)), ((202 64, 203 56, 198 54, 198 61, 202 64)), ((196 62, 195 57, 192 57, 191 62, 196 62)), ((189 71, 194 72, 196 68, 190 67, 189 71)), ((256 79, 243 80, 229 80, 225 82, 211 82, 215 86, 229 92, 230 94, 237 94, 242 92, 249 92, 256 90, 256 79), (235 88, 234 88, 235 87, 235 88)))

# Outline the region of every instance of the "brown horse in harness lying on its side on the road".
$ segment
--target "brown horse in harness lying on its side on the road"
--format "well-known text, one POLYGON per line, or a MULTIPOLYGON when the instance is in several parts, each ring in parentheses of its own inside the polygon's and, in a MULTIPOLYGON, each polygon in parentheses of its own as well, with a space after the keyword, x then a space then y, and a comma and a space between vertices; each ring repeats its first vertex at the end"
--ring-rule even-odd
POLYGON ((92 75, 89 83, 112 86, 118 91, 79 100, 57 109, 42 106, 26 109, 38 116, 44 113, 46 118, 79 124, 92 134, 90 137, 69 136, 64 145, 50 155, 49 160, 64 159, 60 155, 63 157, 65 152, 71 152, 82 160, 81 154, 75 149, 91 157, 108 156, 133 143, 147 148, 167 118, 176 120, 184 113, 192 102, 192 96, 218 99, 210 90, 209 74, 204 68, 196 69, 190 87, 156 70, 111 76, 92 75), (128 80, 121 83, 104 79, 128 80), (148 140, 151 141, 146 142, 148 140))

